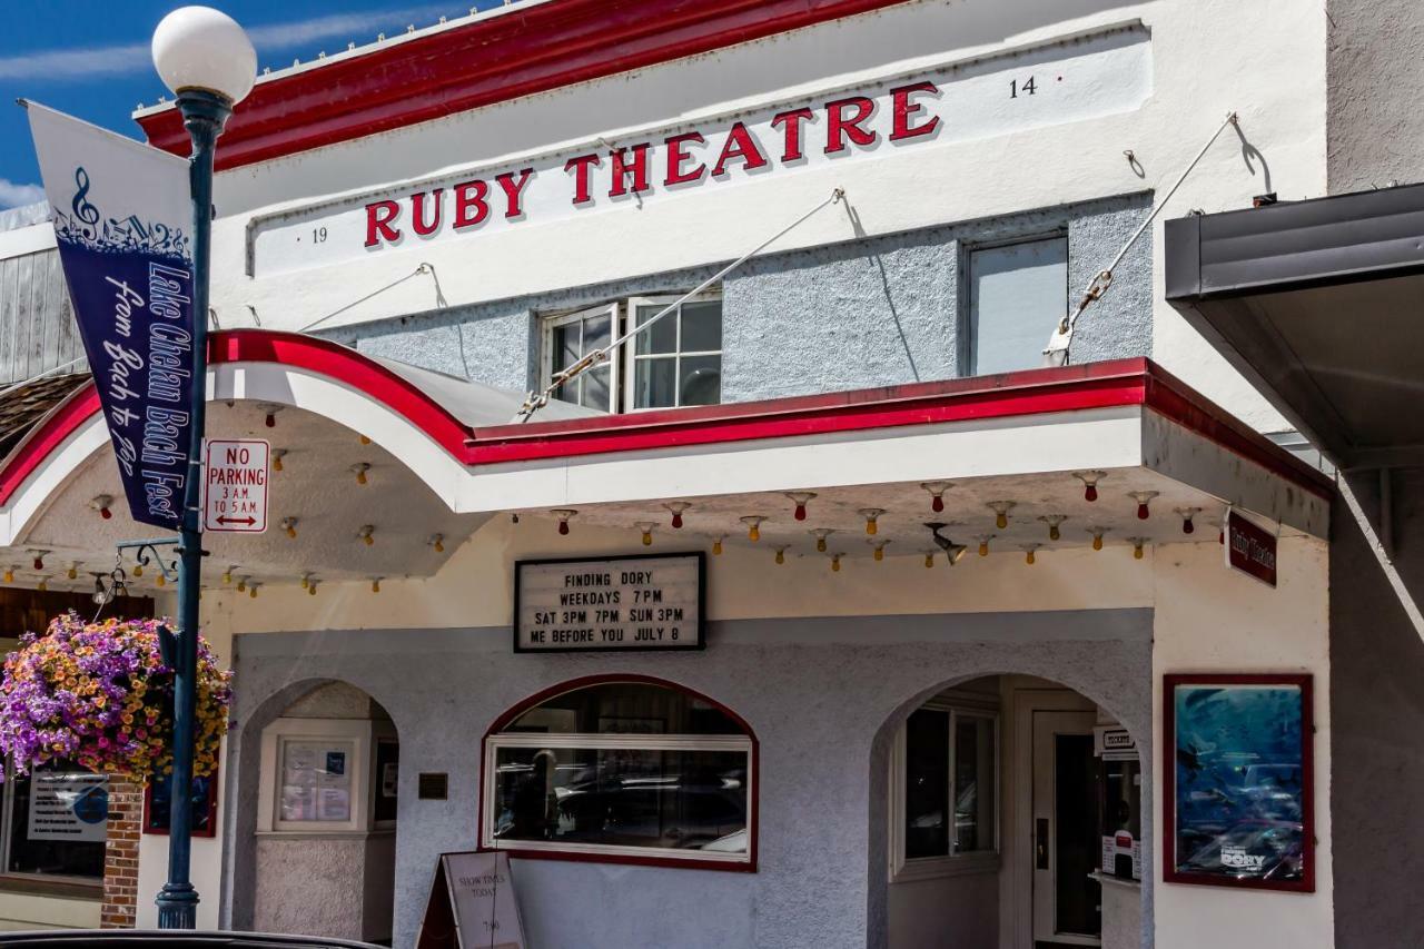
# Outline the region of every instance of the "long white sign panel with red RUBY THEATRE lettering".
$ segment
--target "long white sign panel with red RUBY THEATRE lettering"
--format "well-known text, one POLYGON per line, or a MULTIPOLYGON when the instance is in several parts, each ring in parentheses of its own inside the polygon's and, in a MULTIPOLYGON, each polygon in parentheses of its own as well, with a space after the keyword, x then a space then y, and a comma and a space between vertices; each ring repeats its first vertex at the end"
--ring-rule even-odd
POLYGON ((255 218, 249 266, 253 275, 278 274, 598 209, 642 208, 766 175, 1129 111, 1151 93, 1148 31, 1141 24, 1099 30, 691 125, 609 133, 612 141, 255 218))

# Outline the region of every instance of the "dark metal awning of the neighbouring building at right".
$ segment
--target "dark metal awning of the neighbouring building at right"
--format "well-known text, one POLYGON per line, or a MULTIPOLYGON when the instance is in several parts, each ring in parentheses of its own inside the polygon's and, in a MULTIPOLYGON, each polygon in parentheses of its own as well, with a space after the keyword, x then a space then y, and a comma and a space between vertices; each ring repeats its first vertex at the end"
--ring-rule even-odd
POLYGON ((1166 295, 1341 467, 1424 463, 1424 184, 1168 221, 1166 295))

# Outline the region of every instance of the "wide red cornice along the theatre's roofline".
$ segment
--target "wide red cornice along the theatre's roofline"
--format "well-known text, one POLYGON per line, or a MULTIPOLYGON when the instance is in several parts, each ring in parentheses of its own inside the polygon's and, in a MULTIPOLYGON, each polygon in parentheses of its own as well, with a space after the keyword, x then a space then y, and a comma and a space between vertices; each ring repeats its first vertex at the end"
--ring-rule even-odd
MULTIPOLYGON (((554 0, 258 83, 218 168, 320 148, 575 83, 748 43, 904 0, 554 0)), ((175 108, 137 120, 187 155, 175 108)))

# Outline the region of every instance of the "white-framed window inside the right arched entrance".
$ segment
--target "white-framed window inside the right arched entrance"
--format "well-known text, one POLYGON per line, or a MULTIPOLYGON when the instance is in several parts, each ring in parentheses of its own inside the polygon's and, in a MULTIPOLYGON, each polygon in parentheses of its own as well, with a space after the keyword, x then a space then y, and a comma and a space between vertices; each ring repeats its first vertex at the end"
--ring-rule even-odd
POLYGON ((930 702, 910 714, 891 761, 891 875, 997 865, 998 715, 930 702))

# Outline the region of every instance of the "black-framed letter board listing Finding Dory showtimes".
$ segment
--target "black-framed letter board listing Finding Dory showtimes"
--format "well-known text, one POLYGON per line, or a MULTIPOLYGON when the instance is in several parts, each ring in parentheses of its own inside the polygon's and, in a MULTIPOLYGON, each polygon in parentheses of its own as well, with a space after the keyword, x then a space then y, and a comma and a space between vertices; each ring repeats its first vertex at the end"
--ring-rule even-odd
POLYGON ((702 551, 520 560, 514 651, 699 650, 705 600, 702 551))

